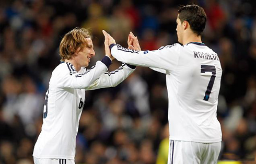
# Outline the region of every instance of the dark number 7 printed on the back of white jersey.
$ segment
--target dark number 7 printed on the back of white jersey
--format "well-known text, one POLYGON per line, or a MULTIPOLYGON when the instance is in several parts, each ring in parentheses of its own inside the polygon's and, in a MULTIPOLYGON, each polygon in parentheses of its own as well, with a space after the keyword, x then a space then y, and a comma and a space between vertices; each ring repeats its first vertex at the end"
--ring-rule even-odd
POLYGON ((201 65, 201 73, 205 73, 205 72, 212 72, 212 76, 210 78, 210 81, 209 81, 209 84, 207 86, 205 96, 204 96, 204 100, 208 101, 208 99, 210 97, 210 93, 212 92, 214 80, 216 77, 216 68, 215 68, 215 66, 212 66, 212 65, 201 65))

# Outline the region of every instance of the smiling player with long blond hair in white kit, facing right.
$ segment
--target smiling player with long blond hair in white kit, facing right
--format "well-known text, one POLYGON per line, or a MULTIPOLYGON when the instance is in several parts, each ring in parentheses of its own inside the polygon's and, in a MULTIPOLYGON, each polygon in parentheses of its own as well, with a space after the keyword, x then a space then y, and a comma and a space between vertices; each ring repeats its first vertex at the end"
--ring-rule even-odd
POLYGON ((85 91, 114 87, 134 70, 123 63, 113 72, 107 72, 111 60, 105 39, 106 56, 95 66, 86 69, 95 56, 89 32, 75 28, 65 34, 60 44, 62 63, 52 72, 46 91, 42 131, 34 146, 36 164, 74 164, 78 123, 85 105, 85 91))

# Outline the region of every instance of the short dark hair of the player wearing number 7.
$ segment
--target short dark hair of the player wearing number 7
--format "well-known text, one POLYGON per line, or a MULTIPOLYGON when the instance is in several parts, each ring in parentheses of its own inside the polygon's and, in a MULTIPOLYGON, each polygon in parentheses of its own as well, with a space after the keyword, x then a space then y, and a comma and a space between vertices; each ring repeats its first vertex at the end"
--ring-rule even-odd
POLYGON ((206 25, 206 14, 202 7, 199 5, 181 5, 179 6, 179 19, 181 23, 185 20, 197 36, 200 36, 204 31, 206 25))

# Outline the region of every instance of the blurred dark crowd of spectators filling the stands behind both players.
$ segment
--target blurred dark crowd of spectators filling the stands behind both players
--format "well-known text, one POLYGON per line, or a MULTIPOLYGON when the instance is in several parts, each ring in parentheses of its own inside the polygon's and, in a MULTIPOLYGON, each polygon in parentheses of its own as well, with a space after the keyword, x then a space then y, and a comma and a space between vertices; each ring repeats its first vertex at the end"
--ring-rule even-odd
MULTIPOLYGON (((133 31, 142 50, 156 50, 177 42, 178 5, 192 2, 206 11, 202 41, 218 53, 223 68, 217 110, 223 131, 219 158, 254 160, 254 1, 3 0, 0 163, 33 163, 45 92, 51 72, 60 63, 59 44, 66 32, 75 27, 90 29, 96 51, 92 66, 104 56, 102 29, 123 46, 127 46, 127 36, 133 31)), ((110 71, 119 65, 113 61, 110 71)), ((149 68, 137 67, 117 87, 87 91, 76 138, 76 163, 156 163, 161 153, 159 145, 168 138, 167 114, 165 75, 149 68)))

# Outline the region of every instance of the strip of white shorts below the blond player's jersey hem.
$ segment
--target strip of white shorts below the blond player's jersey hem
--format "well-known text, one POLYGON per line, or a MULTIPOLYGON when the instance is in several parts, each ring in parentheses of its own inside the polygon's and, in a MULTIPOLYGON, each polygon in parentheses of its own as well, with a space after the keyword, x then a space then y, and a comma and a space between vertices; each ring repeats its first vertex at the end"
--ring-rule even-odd
POLYGON ((75 164, 72 159, 38 159, 34 157, 34 164, 75 164))

